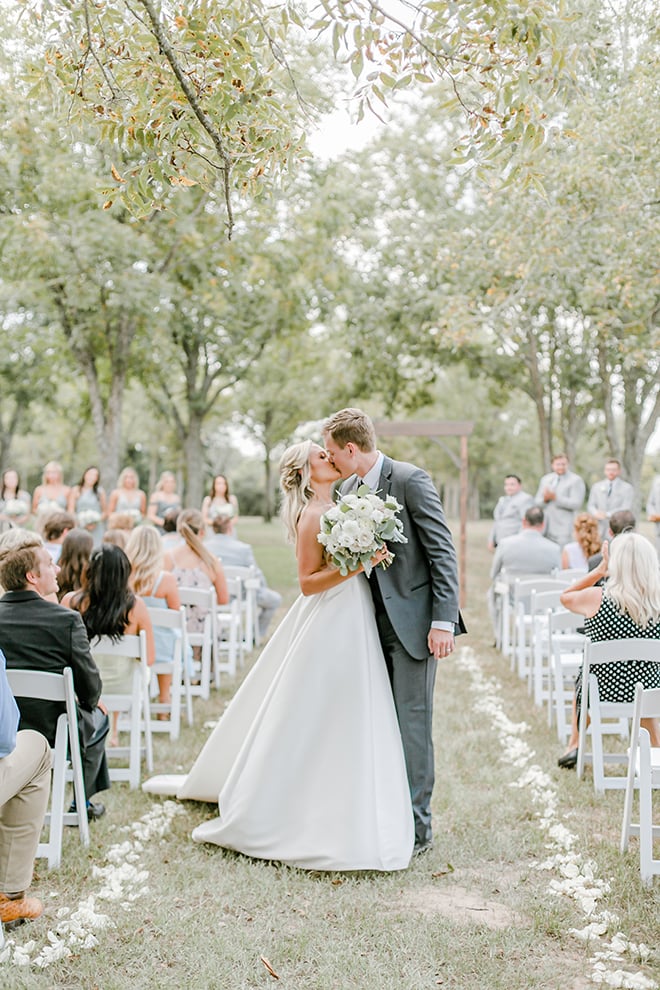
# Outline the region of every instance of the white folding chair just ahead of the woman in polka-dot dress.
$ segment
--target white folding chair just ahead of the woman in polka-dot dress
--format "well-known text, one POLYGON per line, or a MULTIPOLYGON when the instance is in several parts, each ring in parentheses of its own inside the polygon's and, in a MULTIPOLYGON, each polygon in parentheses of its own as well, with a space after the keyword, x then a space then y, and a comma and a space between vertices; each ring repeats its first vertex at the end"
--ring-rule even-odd
POLYGON ((575 678, 584 657, 584 633, 578 629, 584 616, 575 612, 551 612, 548 615, 548 643, 552 663, 552 706, 557 723, 557 738, 566 745, 573 718, 575 678))

